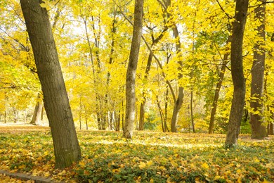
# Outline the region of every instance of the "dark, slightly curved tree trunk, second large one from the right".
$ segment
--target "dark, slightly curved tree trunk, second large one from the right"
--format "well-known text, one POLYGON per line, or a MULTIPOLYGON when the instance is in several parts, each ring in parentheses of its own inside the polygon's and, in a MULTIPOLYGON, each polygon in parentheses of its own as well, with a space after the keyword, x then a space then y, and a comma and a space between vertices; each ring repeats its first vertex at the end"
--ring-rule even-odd
POLYGON ((249 0, 237 0, 235 8, 235 20, 231 37, 231 74, 233 80, 233 100, 226 134, 226 147, 237 145, 240 133, 242 113, 244 111, 245 79, 242 66, 242 44, 244 27, 247 21, 247 8, 249 0))

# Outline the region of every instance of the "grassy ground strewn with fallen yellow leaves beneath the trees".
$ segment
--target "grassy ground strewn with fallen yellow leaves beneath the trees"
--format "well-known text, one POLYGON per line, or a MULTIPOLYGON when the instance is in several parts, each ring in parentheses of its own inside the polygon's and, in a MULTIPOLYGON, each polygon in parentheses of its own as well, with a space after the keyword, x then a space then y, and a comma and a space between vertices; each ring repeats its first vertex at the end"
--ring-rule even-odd
POLYGON ((77 131, 82 160, 54 170, 48 127, 0 126, 0 169, 65 182, 273 182, 274 138, 240 136, 224 149, 225 135, 77 131))

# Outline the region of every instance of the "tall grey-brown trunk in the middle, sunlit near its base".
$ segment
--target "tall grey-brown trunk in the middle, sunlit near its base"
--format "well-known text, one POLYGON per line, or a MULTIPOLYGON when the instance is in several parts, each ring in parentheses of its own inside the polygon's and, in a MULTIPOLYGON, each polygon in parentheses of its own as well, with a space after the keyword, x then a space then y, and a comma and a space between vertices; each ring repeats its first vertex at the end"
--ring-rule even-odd
POLYGON ((132 138, 135 121, 135 80, 142 35, 142 20, 143 0, 136 0, 134 8, 134 25, 131 52, 129 54, 129 66, 126 71, 126 120, 124 124, 123 136, 127 139, 132 138))

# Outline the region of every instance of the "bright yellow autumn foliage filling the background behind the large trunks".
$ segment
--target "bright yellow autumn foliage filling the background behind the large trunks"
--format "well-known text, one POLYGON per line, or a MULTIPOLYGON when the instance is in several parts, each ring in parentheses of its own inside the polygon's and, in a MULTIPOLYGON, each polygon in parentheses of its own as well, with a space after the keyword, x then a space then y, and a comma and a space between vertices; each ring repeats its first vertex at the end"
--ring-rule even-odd
MULTIPOLYGON (((49 15, 75 126, 123 130, 134 1, 45 0, 41 7, 49 15)), ((32 46, 19 1, 1 1, 0 9, 0 120, 30 122, 41 94, 32 46)), ((134 129, 192 132, 195 127, 195 132, 226 133, 233 98, 230 36, 235 2, 148 0, 143 10, 134 129)), ((240 133, 251 133, 250 113, 259 113, 263 127, 273 133, 273 11, 271 1, 249 1, 240 133), (256 15, 262 6, 263 21, 256 15), (265 26, 264 39, 257 33, 260 24, 265 26), (263 96, 257 100, 263 103, 261 112, 250 105, 258 42, 265 53, 263 96)))

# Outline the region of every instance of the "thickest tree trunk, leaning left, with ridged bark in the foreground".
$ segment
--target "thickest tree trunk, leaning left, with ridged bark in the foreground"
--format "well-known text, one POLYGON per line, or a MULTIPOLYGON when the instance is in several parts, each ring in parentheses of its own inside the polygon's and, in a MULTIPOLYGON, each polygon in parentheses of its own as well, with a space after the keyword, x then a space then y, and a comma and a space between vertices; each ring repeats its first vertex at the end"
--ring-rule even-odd
POLYGON ((46 8, 40 0, 20 0, 44 94, 53 137, 56 168, 79 161, 81 151, 46 8))

